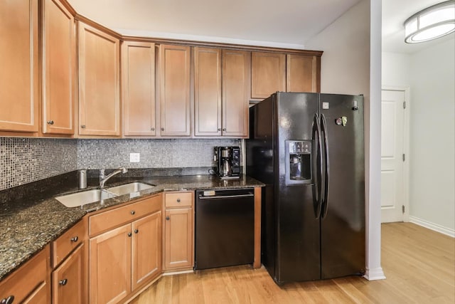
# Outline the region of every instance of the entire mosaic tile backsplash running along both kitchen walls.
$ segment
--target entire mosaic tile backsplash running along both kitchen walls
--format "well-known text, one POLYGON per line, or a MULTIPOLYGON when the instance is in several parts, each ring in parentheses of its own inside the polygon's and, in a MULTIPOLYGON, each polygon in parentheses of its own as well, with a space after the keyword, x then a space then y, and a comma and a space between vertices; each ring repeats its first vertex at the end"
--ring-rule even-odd
POLYGON ((76 169, 210 167, 235 139, 75 140, 0 137, 0 191, 76 169), (129 162, 139 153, 140 162, 129 162))

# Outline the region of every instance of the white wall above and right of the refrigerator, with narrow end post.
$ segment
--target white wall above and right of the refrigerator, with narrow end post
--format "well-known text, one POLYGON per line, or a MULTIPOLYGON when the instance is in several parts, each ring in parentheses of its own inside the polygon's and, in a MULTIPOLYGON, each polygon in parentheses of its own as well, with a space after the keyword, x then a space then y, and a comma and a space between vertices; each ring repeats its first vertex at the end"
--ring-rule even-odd
POLYGON ((381 1, 363 0, 310 41, 323 50, 321 92, 365 95, 365 190, 369 280, 385 278, 380 266, 381 1))

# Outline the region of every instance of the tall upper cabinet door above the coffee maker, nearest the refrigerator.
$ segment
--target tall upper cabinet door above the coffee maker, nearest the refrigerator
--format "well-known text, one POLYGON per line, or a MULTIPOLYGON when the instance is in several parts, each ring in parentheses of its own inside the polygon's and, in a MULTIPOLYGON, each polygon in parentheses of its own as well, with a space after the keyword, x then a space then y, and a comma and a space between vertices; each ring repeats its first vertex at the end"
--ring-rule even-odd
POLYGON ((251 53, 223 50, 223 135, 248 136, 251 53))

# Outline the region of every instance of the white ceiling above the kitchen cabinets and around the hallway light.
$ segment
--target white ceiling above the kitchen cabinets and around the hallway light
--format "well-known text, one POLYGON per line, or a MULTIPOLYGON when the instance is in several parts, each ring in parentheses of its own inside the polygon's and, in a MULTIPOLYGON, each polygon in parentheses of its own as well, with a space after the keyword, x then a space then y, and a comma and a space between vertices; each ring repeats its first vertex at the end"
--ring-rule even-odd
MULTIPOLYGON (((305 48, 361 0, 68 0, 74 9, 132 36, 305 48)), ((373 0, 371 0, 373 1, 373 0)), ((382 0, 382 51, 413 53, 453 39, 404 42, 403 23, 444 0, 382 0)))

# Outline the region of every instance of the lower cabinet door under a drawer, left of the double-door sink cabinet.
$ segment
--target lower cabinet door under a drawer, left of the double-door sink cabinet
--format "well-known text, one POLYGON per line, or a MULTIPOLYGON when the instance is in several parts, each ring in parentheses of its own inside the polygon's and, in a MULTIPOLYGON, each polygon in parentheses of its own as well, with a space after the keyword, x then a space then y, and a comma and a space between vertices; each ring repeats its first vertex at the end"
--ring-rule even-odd
POLYGON ((53 303, 84 303, 82 243, 52 273, 53 303))

